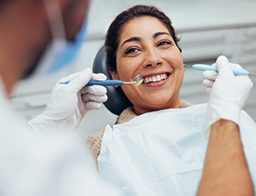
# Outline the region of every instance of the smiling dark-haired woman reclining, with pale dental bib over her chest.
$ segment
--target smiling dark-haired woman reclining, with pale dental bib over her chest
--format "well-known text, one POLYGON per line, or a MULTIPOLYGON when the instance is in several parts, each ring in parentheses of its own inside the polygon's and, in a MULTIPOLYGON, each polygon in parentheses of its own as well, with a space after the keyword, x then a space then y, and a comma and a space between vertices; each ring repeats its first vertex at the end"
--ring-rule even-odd
POLYGON ((180 100, 184 69, 177 42, 171 21, 154 7, 132 7, 108 29, 112 78, 132 81, 141 75, 143 84, 121 87, 132 107, 107 126, 103 140, 103 132, 96 133, 88 144, 100 175, 126 195, 196 193, 207 149, 207 106, 180 100))

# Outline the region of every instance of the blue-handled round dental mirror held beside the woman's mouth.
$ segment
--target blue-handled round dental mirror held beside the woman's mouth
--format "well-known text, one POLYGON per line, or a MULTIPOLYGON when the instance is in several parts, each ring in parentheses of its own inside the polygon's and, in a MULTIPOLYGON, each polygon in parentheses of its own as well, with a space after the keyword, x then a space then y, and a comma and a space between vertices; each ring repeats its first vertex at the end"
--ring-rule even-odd
MULTIPOLYGON (((60 83, 60 84, 68 84, 70 82, 64 82, 64 83, 60 83)), ((123 84, 135 84, 136 86, 139 86, 140 84, 143 83, 143 77, 140 75, 137 75, 132 82, 124 82, 122 80, 90 80, 88 84, 86 84, 86 86, 92 86, 92 85, 102 85, 102 86, 119 86, 119 85, 123 85, 123 84)))

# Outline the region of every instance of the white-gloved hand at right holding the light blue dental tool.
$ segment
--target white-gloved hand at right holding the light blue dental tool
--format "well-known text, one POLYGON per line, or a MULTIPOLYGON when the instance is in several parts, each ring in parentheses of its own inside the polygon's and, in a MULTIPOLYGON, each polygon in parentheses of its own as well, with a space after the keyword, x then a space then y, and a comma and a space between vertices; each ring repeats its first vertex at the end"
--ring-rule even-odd
POLYGON ((225 56, 219 56, 216 61, 218 73, 206 71, 203 73, 203 84, 209 92, 206 137, 210 135, 211 125, 218 119, 231 120, 239 125, 242 107, 253 88, 253 82, 248 76, 235 76, 232 68, 242 69, 237 64, 230 64, 225 56), (230 66, 231 65, 231 66, 230 66))

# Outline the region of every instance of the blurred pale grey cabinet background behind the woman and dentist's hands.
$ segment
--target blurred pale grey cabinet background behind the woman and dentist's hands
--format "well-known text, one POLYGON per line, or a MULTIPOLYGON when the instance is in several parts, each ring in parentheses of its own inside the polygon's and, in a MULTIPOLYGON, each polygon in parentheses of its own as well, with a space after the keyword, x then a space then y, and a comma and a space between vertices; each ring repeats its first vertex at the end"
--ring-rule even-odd
MULTIPOLYGON (((27 119, 42 112, 55 83, 70 73, 92 67, 110 23, 121 11, 136 4, 154 5, 171 18, 181 37, 184 63, 211 65, 218 55, 226 55, 230 62, 256 72, 256 0, 92 0, 88 34, 77 60, 61 72, 21 82, 11 100, 15 109, 27 119)), ((256 76, 250 78, 254 87, 244 109, 256 120, 256 76)), ((201 81, 200 71, 186 68, 181 98, 194 104, 206 102, 201 81)), ((106 124, 114 124, 116 118, 105 107, 87 112, 79 134, 85 138, 103 130, 106 124)))

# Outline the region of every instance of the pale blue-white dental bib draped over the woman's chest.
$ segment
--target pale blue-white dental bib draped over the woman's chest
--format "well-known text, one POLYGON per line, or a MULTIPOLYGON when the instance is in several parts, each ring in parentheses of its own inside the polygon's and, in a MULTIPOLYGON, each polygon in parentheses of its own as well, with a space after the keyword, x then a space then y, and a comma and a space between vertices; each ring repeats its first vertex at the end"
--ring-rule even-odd
MULTIPOLYGON (((207 104, 148 112, 107 125, 98 157, 100 176, 124 195, 195 195, 207 139, 207 104)), ((255 182, 256 124, 241 113, 241 139, 255 182)))

